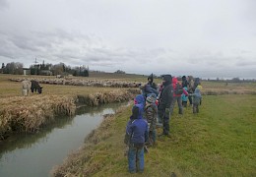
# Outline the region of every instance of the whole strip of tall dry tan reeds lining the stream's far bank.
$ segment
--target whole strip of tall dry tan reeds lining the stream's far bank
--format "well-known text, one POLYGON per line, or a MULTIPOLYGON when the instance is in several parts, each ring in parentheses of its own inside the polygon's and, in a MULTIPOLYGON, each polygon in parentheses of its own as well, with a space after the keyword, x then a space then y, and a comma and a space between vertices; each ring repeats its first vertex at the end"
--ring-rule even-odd
POLYGON ((136 91, 138 90, 114 89, 91 94, 33 94, 1 98, 0 139, 5 139, 13 132, 36 132, 41 126, 54 121, 58 115, 74 115, 78 104, 96 106, 121 102, 132 98, 136 91))

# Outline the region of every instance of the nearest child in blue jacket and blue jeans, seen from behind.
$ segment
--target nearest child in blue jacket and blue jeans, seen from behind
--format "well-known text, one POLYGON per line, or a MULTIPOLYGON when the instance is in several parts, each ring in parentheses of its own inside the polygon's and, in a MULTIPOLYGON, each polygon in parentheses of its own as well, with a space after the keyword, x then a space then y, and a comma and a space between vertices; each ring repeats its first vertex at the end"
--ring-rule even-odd
POLYGON ((132 116, 126 126, 125 138, 128 139, 126 142, 129 146, 128 170, 130 173, 144 171, 144 145, 148 142, 149 132, 148 122, 143 119, 143 112, 144 104, 135 104, 132 108, 132 116))

